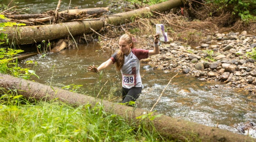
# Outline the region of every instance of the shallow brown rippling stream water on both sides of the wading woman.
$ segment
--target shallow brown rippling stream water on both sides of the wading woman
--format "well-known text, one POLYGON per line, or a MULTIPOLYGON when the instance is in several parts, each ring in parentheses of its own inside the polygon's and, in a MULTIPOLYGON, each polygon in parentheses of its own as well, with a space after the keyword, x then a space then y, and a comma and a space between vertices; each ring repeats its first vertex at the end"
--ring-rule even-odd
MULTIPOLYGON (((108 67, 102 75, 86 70, 89 65, 97 66, 105 62, 112 54, 111 49, 105 50, 106 52, 96 52, 96 50, 99 50, 99 47, 81 45, 79 50, 67 49, 59 53, 47 54, 36 71, 40 79, 32 79, 49 85, 52 78, 52 85, 59 87, 70 84, 83 85, 79 93, 94 97, 108 80, 99 96, 105 100, 117 97, 112 102, 121 102, 121 73, 116 72, 114 66, 108 67), (52 70, 53 65, 55 65, 54 70, 52 70)), ((21 60, 20 66, 24 67, 24 62, 27 60, 40 63, 39 56, 32 56, 21 60)), ((140 74, 144 89, 136 104, 138 108, 150 110, 176 73, 150 69, 146 71, 142 68, 143 65, 146 64, 141 64, 140 74)), ((194 77, 179 74, 172 79, 154 110, 167 116, 211 127, 216 127, 219 123, 218 127, 221 129, 242 133, 246 124, 256 123, 255 107, 256 96, 245 90, 226 87, 220 82, 200 81, 194 77)), ((247 131, 244 134, 246 133, 247 131)), ((249 134, 256 138, 256 130, 253 130, 253 127, 249 134)))

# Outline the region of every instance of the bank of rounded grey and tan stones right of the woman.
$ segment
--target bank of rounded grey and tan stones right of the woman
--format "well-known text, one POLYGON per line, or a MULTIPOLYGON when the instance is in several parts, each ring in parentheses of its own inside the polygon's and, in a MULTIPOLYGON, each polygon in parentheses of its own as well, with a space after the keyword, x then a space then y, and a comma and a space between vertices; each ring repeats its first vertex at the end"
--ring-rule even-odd
POLYGON ((227 86, 244 87, 256 93, 255 47, 256 37, 246 31, 215 33, 204 37, 201 46, 195 48, 178 41, 162 44, 159 55, 142 62, 165 72, 182 72, 200 80, 223 81, 227 86))

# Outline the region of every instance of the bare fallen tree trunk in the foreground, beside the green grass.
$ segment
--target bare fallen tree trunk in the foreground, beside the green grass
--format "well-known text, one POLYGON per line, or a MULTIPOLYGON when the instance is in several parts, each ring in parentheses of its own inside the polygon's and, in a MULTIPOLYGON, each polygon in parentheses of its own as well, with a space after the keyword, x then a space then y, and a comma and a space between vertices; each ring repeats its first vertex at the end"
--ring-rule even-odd
MULTIPOLYGON (((100 102, 104 106, 104 110, 106 112, 119 115, 129 122, 139 122, 136 117, 150 113, 150 111, 147 110, 111 103, 83 94, 69 92, 57 87, 52 88, 51 86, 39 84, 21 78, 15 78, 10 75, 0 74, 0 86, 9 89, 17 89, 19 95, 23 95, 26 99, 35 99, 38 101, 42 100, 43 98, 47 101, 57 98, 59 101, 74 106, 90 103, 91 107, 94 107, 98 102, 100 102)), ((155 115, 158 114, 151 114, 151 116, 155 115)), ((245 135, 239 135, 229 131, 221 130, 219 128, 208 127, 205 125, 175 119, 164 115, 161 117, 156 117, 152 123, 160 134, 167 136, 168 138, 179 139, 181 141, 184 140, 184 137, 191 138, 192 135, 196 135, 196 138, 201 139, 201 141, 213 142, 229 142, 234 140, 236 142, 253 142, 256 140, 245 135)))

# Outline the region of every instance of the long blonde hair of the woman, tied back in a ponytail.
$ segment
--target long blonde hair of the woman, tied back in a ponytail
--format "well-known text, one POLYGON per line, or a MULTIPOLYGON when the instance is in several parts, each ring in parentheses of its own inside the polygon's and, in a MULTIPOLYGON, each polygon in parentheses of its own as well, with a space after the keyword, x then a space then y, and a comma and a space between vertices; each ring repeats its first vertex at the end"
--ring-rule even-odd
MULTIPOLYGON (((132 40, 132 36, 131 35, 123 34, 119 38, 119 41, 120 40, 126 41, 128 44, 132 44, 131 49, 134 48, 134 42, 132 40)), ((117 54, 116 54, 116 70, 117 71, 121 71, 123 65, 124 65, 124 54, 121 52, 121 50, 119 50, 119 51, 117 51, 117 54)))

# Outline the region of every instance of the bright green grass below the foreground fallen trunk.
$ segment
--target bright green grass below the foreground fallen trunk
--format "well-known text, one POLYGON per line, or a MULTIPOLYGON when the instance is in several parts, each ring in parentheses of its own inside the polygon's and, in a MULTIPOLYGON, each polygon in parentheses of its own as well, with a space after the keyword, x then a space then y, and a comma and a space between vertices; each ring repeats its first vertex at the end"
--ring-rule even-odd
POLYGON ((6 93, 0 98, 0 141, 166 141, 152 124, 127 122, 100 104, 31 104, 16 91, 1 90, 6 93))

